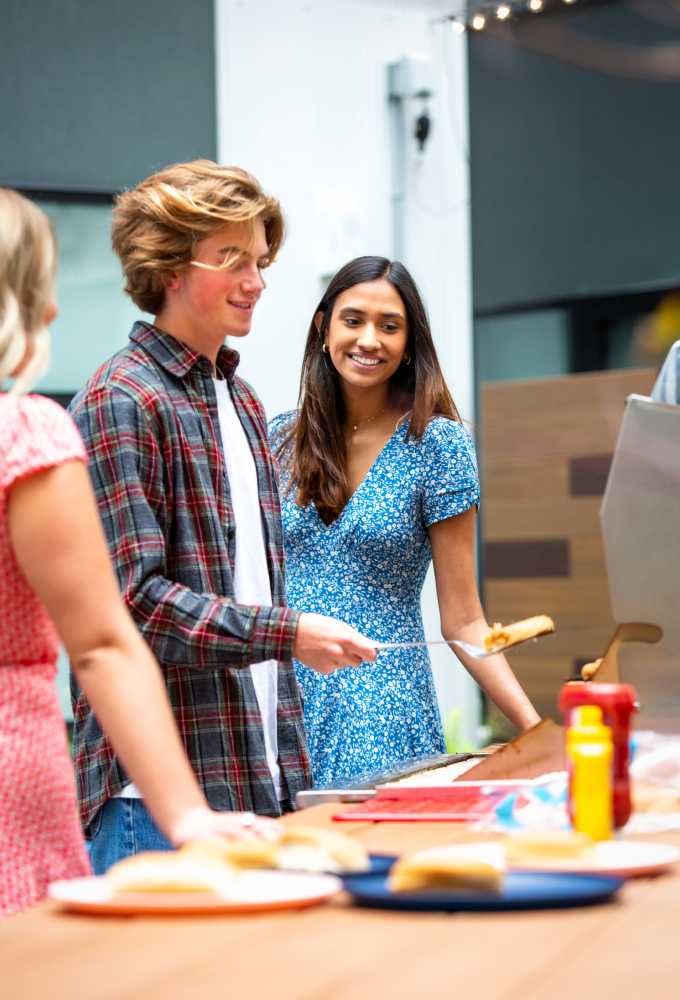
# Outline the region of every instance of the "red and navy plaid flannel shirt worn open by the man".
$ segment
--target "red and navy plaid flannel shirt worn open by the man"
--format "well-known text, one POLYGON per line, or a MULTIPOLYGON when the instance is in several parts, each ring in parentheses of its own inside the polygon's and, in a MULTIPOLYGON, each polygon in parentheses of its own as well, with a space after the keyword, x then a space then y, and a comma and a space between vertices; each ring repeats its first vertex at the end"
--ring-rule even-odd
MULTIPOLYGON (((278 660, 278 746, 291 801, 309 786, 302 705, 290 662, 298 613, 285 600, 276 473, 262 405, 236 377, 238 354, 217 367, 255 460, 272 607, 236 604, 235 525, 209 360, 147 323, 70 406, 125 601, 163 672, 187 755, 215 809, 280 812, 265 756, 251 663, 278 660)), ((83 567, 87 572, 87 567, 83 567)), ((72 680, 81 820, 128 778, 72 680)))

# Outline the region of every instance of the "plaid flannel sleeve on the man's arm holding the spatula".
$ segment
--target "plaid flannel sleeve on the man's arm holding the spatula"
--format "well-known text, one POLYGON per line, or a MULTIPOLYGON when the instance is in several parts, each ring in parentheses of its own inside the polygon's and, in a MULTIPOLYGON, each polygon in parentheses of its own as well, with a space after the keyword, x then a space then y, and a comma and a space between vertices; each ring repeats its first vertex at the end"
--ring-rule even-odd
POLYGON ((192 670, 290 660, 299 613, 237 604, 170 579, 172 483, 157 429, 116 387, 93 393, 74 414, 87 442, 90 474, 120 588, 157 659, 192 670))

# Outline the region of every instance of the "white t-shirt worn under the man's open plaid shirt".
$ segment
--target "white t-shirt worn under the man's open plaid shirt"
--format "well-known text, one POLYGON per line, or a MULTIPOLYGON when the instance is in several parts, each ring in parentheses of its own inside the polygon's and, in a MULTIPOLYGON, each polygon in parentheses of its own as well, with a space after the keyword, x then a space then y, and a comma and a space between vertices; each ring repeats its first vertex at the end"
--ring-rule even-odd
MULTIPOLYGON (((248 438, 243 430, 229 393, 229 383, 214 379, 220 435, 227 466, 231 506, 234 512, 236 558, 234 600, 237 604, 272 603, 267 554, 262 534, 257 471, 248 438)), ((262 716, 264 746, 274 789, 281 798, 281 771, 278 757, 276 707, 278 703, 278 664, 276 660, 254 663, 250 673, 257 704, 262 716)), ((118 793, 119 798, 141 798, 139 789, 130 783, 118 793)))

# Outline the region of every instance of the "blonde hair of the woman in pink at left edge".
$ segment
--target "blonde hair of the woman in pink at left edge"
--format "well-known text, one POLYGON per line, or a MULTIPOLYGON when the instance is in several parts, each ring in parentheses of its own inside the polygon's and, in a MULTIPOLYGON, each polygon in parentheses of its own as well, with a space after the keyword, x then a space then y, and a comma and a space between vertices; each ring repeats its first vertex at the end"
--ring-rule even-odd
POLYGON ((47 368, 45 314, 54 292, 57 249, 49 220, 37 205, 0 188, 0 385, 30 348, 11 392, 26 392, 47 368))

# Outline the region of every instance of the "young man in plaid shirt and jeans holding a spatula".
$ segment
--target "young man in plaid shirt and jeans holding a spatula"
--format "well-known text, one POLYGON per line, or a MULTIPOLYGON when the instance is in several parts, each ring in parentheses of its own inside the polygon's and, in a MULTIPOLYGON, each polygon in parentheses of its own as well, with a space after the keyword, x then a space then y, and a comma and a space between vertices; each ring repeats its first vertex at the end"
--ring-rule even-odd
MULTIPOLYGON (((285 605, 279 496, 262 406, 226 337, 246 336, 283 238, 245 171, 177 164, 122 194, 113 247, 153 323, 71 404, 125 600, 163 671, 216 809, 276 816, 310 783, 291 658, 375 658, 354 629, 285 605)), ((102 872, 169 846, 74 685, 81 819, 102 872)))

